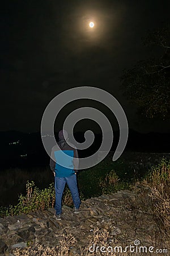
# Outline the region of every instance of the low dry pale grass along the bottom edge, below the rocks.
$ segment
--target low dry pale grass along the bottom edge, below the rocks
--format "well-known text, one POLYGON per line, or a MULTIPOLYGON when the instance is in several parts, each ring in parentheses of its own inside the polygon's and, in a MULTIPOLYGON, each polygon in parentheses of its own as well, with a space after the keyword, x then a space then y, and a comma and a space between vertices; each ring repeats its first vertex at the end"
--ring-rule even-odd
MULTIPOLYGON (((55 247, 50 247, 46 245, 37 244, 33 247, 25 247, 24 249, 15 249, 12 254, 15 256, 90 256, 90 255, 112 255, 112 256, 134 256, 134 253, 129 251, 124 252, 125 244, 116 241, 116 245, 109 241, 110 234, 108 230, 95 229, 91 236, 88 236, 88 242, 86 247, 78 245, 75 237, 72 234, 67 234, 62 236, 63 239, 59 241, 59 245, 55 247), (97 246, 99 246, 97 248, 97 246), (118 247, 122 247, 122 251, 118 251, 118 247)), ((153 240, 151 238, 151 245, 154 246, 153 240)), ((151 255, 148 251, 138 251, 135 252, 136 256, 147 256, 151 255)), ((168 255, 167 253, 154 253, 154 255, 168 255)))

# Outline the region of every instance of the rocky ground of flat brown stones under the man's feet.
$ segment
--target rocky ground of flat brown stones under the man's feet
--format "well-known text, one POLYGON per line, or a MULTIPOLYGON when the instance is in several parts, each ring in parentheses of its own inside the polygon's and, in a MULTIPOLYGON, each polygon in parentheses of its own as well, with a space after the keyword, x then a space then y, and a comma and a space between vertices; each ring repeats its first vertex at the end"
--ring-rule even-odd
POLYGON ((140 243, 141 246, 153 246, 153 250, 167 249, 169 253, 126 255, 170 255, 169 244, 161 239, 162 234, 149 210, 149 201, 145 198, 148 193, 149 188, 138 186, 133 191, 93 197, 82 201, 79 214, 64 205, 61 221, 56 220, 54 209, 0 218, 0 255, 19 255, 15 254, 17 247, 24 250, 28 246, 35 248, 37 244, 56 247, 61 245, 63 235, 67 237, 67 245, 70 243, 70 255, 81 255, 80 248, 88 250, 93 246, 92 241, 100 246, 102 236, 112 247, 121 245, 125 248, 140 243), (68 234, 71 234, 70 238, 68 234))

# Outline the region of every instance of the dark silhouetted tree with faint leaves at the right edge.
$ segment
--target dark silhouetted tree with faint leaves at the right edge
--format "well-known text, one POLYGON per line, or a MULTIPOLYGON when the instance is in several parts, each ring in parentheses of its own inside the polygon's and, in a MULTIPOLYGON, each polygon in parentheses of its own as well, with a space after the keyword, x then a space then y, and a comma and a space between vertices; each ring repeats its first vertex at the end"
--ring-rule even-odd
POLYGON ((146 46, 162 48, 161 54, 139 61, 120 78, 125 95, 137 105, 138 112, 148 118, 170 117, 169 39, 170 24, 150 32, 143 41, 146 46))

